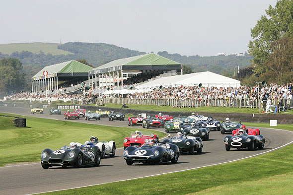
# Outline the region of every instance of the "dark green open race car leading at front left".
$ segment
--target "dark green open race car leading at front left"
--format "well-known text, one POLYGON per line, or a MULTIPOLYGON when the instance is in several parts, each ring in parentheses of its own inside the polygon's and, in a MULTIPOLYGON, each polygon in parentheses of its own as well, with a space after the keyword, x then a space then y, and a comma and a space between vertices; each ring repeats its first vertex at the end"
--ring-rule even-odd
POLYGON ((83 146, 80 143, 75 143, 72 148, 65 145, 56 151, 46 148, 41 154, 41 165, 44 169, 52 166, 74 166, 76 168, 83 165, 99 166, 100 162, 101 151, 93 143, 83 146))

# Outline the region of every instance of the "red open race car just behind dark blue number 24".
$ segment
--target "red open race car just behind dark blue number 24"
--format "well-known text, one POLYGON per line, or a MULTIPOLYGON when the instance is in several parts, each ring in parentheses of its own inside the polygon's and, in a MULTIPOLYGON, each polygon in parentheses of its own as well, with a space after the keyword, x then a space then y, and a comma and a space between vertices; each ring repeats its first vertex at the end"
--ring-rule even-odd
POLYGON ((151 137, 153 137, 156 142, 159 140, 158 136, 153 135, 152 133, 150 133, 150 135, 143 135, 143 133, 139 130, 136 130, 135 133, 131 132, 130 137, 124 138, 124 149, 126 149, 128 146, 141 147, 144 143, 148 142, 148 139, 151 137))

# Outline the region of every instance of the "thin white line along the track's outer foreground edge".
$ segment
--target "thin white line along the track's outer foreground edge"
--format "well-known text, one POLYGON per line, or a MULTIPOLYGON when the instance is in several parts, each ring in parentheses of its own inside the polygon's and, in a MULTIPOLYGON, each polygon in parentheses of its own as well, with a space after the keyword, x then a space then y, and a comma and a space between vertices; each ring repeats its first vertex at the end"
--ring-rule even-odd
MULTIPOLYGON (((293 131, 290 130, 285 130, 285 131, 289 131, 291 133, 293 133, 293 131)), ((141 179, 141 178, 147 178, 147 177, 153 177, 153 176, 159 176, 159 175, 165 175, 165 174, 169 174, 169 173, 177 173, 177 172, 182 172, 182 171, 189 171, 189 170, 193 170, 193 169, 199 169, 199 168, 204 168, 204 167, 211 167, 211 166, 215 166, 215 165, 221 165, 221 164, 225 164, 225 163, 230 163, 230 162, 235 162, 235 161, 239 161, 239 160, 243 160, 243 159, 247 159, 247 158, 251 158, 254 156, 259 156, 261 154, 265 154, 274 150, 277 150, 281 147, 284 147, 286 145, 289 145, 293 143, 293 141, 286 143, 282 146, 279 146, 277 148, 268 150, 266 152, 262 152, 259 154, 254 154, 251 156, 247 156, 247 157, 243 157, 243 158, 239 158, 239 159, 235 159, 235 160, 230 160, 230 161, 226 161, 226 162, 221 162, 221 163, 216 163, 216 164, 212 164, 212 165, 205 165, 205 166, 201 166, 201 167, 194 167, 194 168, 189 168, 189 169, 184 169, 184 170, 179 170, 179 171, 171 171, 171 172, 166 172, 166 173, 159 173, 159 174, 154 174, 154 175, 148 175, 148 176, 143 176, 143 177, 137 177, 137 178, 131 178, 131 179, 126 179, 126 180, 119 180, 119 181, 115 181, 115 182, 106 182, 106 183, 102 183, 102 184, 92 184, 92 185, 88 185, 88 186, 80 186, 80 187, 74 187, 74 188, 67 188, 67 189, 61 189, 61 190, 54 190, 54 191, 47 191, 47 192, 41 192, 41 193, 34 193, 34 194, 27 194, 27 195, 36 195, 36 194, 42 194, 42 193, 51 193, 51 192, 58 192, 58 191, 63 191, 63 190, 71 190, 71 189, 78 189, 78 188, 85 188, 85 187, 90 187, 90 186, 99 186, 99 185, 103 185, 103 184, 110 184, 110 183, 116 183, 116 182, 123 182, 123 181, 128 181, 128 180, 135 180, 135 179, 141 179)))

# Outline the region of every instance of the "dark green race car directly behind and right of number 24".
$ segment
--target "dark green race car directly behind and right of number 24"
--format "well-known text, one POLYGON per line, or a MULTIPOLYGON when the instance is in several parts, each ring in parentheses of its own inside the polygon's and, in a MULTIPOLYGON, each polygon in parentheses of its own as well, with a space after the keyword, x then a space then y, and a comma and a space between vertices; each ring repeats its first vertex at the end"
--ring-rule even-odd
POLYGON ((174 136, 171 139, 164 139, 163 142, 173 143, 179 147, 180 153, 188 152, 188 154, 194 154, 194 151, 201 153, 204 146, 200 137, 185 134, 181 136, 174 136))

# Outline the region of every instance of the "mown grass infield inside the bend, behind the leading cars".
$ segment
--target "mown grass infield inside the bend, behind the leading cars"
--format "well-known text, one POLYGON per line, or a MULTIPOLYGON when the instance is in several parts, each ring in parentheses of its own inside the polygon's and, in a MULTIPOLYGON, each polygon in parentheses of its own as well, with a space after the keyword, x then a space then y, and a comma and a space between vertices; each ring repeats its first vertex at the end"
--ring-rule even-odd
MULTIPOLYGON (((0 113, 0 115, 11 114, 0 113)), ((19 116, 18 116, 19 117, 19 116)), ((9 124, 9 120, 0 117, 0 127, 9 124)), ((123 139, 129 136, 133 128, 109 127, 94 124, 74 123, 50 119, 25 117, 29 128, 0 129, 0 166, 20 162, 40 161, 43 149, 60 149, 70 142, 84 143, 94 135, 100 141, 114 140, 117 147, 123 147, 123 139), (13 147, 11 144, 13 143, 13 147)), ((127 123, 125 121, 125 123, 127 123)), ((146 130, 164 137, 164 132, 146 130)))

